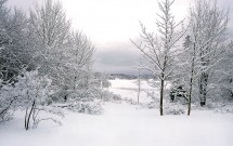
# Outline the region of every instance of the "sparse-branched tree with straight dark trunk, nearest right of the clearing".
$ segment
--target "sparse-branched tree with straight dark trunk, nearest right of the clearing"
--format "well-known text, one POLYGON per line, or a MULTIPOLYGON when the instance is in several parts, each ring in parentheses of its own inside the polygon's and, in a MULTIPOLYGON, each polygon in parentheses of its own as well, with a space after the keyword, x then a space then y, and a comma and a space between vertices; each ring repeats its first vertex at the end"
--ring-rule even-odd
POLYGON ((176 68, 173 65, 173 58, 178 50, 176 43, 184 35, 184 30, 177 31, 179 26, 182 24, 176 23, 174 17, 171 14, 171 5, 173 0, 164 0, 158 2, 161 14, 157 14, 156 21, 157 31, 159 37, 155 36, 154 32, 147 32, 146 27, 141 23, 141 39, 140 44, 132 41, 132 43, 141 51, 147 64, 142 65, 141 68, 147 69, 154 76, 160 80, 160 116, 163 116, 163 101, 165 93, 165 81, 172 76, 172 71, 176 68))

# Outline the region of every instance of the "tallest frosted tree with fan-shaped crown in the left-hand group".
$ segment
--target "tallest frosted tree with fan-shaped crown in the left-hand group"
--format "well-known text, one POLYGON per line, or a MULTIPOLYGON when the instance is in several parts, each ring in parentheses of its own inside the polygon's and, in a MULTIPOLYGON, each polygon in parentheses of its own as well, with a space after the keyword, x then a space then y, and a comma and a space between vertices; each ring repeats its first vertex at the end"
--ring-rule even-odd
POLYGON ((68 48, 70 23, 67 21, 62 4, 52 0, 30 11, 29 37, 34 59, 42 75, 51 77, 54 83, 63 85, 64 53, 68 48))

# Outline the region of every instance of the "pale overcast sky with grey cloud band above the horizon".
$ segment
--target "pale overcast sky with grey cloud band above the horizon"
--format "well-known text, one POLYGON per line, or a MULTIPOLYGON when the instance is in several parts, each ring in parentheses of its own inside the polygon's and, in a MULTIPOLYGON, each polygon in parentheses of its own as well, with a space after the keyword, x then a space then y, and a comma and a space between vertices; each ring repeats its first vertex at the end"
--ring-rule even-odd
MULTIPOLYGON (((10 6, 24 11, 42 0, 9 0, 10 6)), ((94 69, 102 72, 135 74, 139 51, 130 42, 140 34, 139 22, 148 30, 156 30, 157 0, 60 0, 73 23, 95 45, 94 69)), ((172 13, 176 22, 187 15, 195 0, 176 0, 172 13)), ((218 0, 220 8, 229 9, 233 0, 218 0)), ((233 34, 233 10, 230 8, 230 32, 233 34)))

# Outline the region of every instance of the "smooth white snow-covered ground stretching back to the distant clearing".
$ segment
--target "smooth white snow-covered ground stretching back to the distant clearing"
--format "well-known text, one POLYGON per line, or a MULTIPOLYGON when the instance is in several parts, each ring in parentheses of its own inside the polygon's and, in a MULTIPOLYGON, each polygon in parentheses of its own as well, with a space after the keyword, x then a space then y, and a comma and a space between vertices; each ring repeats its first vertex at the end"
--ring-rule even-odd
MULTIPOLYGON (((132 80, 113 80, 112 88, 124 97, 137 98, 132 80)), ((144 84, 144 90, 155 90, 144 84)), ((145 93, 142 101, 146 98, 145 93), (144 99, 143 99, 144 98, 144 99)), ((146 102, 146 99, 145 99, 146 102)), ((44 121, 24 130, 21 111, 0 124, 0 146, 232 146, 233 115, 194 110, 191 117, 158 115, 157 109, 122 103, 103 103, 102 115, 66 110, 63 125, 44 121)))

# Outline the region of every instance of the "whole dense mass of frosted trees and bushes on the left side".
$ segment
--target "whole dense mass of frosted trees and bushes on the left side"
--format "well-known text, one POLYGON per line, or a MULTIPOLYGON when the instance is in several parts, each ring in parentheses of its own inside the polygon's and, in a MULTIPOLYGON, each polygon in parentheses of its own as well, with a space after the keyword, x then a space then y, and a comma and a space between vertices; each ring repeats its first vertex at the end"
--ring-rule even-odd
POLYGON ((23 109, 28 130, 41 110, 60 115, 49 106, 55 103, 86 112, 82 102, 101 96, 93 83, 92 42, 72 28, 60 2, 46 0, 29 15, 7 2, 0 0, 0 122, 23 109))

